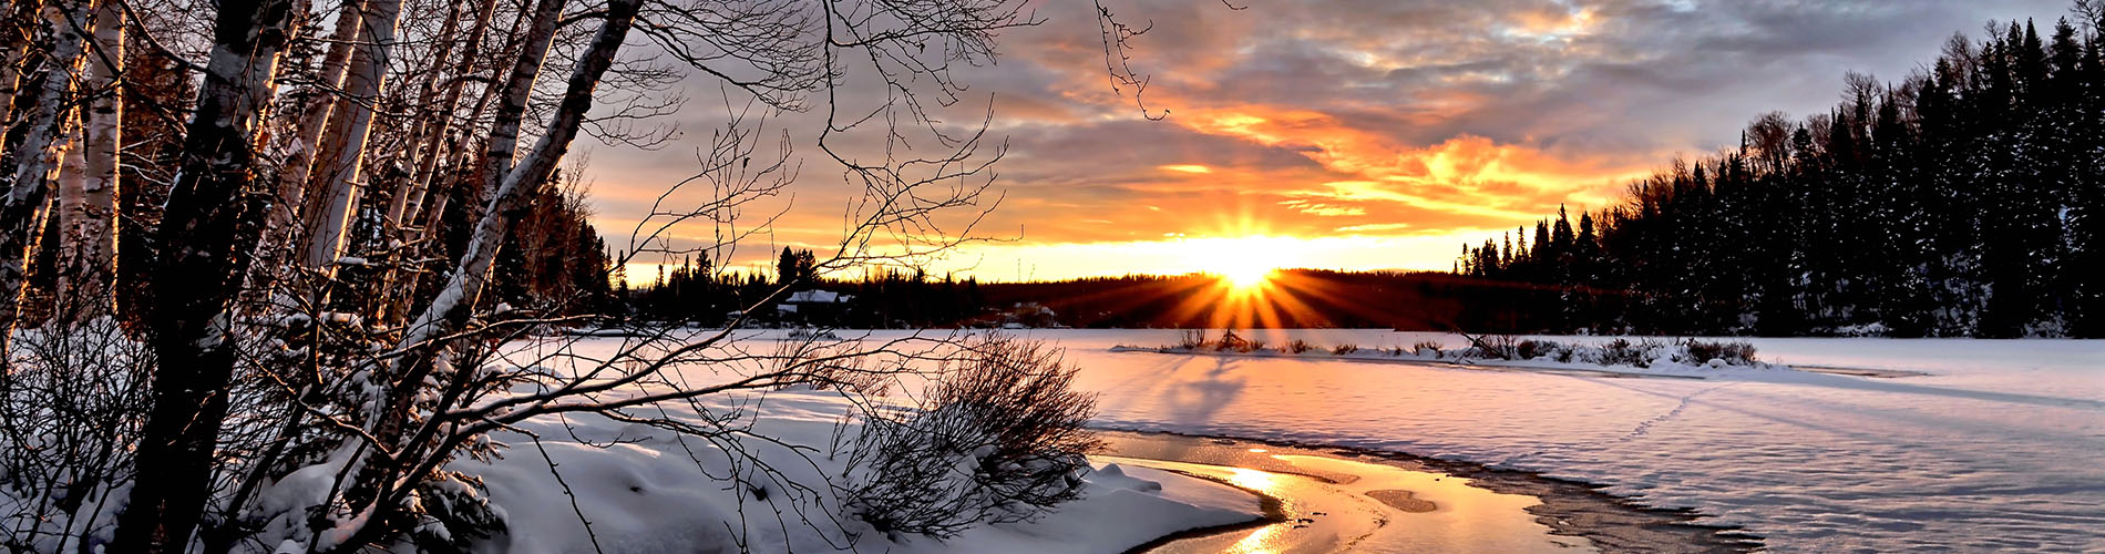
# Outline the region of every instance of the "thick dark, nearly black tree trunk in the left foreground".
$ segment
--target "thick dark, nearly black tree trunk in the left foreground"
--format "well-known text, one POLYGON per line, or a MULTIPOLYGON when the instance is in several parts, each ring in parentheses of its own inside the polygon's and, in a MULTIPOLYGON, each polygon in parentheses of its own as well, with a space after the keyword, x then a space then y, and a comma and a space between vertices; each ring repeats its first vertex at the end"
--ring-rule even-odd
POLYGON ((269 198, 255 173, 257 131, 305 11, 303 0, 219 2, 181 173, 154 232, 162 251, 147 324, 158 369, 137 453, 137 466, 154 472, 133 482, 116 552, 185 550, 210 497, 236 362, 232 301, 269 198))

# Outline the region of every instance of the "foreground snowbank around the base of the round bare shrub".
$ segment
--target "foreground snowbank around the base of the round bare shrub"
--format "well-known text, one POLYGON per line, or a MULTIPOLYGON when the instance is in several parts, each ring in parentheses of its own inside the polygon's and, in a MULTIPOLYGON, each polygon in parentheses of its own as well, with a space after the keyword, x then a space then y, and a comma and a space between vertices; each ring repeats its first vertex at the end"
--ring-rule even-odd
MULTIPOLYGON (((665 407, 701 421, 697 407, 665 407)), ((1122 552, 1183 529, 1246 522, 1261 516, 1257 497, 1225 484, 1097 463, 1086 495, 1036 522, 977 527, 951 539, 886 537, 842 516, 838 491, 850 472, 827 455, 836 421, 855 407, 834 392, 773 392, 699 404, 730 428, 781 440, 730 434, 716 440, 619 423, 596 415, 541 417, 524 432, 497 434, 509 444, 495 461, 455 461, 448 470, 480 476, 509 533, 476 552, 1122 552), (794 444, 796 449, 791 449, 794 444), (726 449, 735 447, 735 449, 726 449), (745 451, 749 455, 733 455, 745 451), (764 461, 770 476, 754 461, 764 461), (552 476, 562 474, 562 484, 552 476), (733 476, 737 482, 733 484, 733 476), (831 478, 831 480, 827 480, 831 478), (796 489, 798 482, 808 489, 796 489), (575 495, 575 497, 573 497, 575 495), (575 503, 573 503, 575 499, 575 503), (579 520, 589 520, 587 525, 579 520), (743 514, 743 516, 741 516, 743 514)))

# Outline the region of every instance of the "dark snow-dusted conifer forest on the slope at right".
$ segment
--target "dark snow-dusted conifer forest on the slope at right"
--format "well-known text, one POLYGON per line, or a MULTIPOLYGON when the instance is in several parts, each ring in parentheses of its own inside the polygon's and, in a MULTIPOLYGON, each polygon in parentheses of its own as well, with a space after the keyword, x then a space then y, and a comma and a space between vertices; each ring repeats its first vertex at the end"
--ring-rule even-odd
POLYGON ((1825 114, 1753 118, 1623 200, 1463 246, 1539 284, 1543 331, 2105 335, 2101 21, 1991 23, 1825 114))

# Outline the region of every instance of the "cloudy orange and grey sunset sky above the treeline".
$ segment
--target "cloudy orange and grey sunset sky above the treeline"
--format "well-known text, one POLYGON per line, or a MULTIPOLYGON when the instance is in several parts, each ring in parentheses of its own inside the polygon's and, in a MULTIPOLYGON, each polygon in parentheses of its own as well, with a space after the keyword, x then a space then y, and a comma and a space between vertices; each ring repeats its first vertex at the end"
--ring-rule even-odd
MULTIPOLYGON (((2067 13, 2065 0, 1103 4, 1151 23, 1130 67, 1149 76, 1141 99, 1160 120, 1130 88, 1114 93, 1090 2, 1029 2, 1042 23, 1002 32, 996 63, 956 70, 968 88, 939 110, 977 128, 991 107, 989 145, 1006 154, 989 190, 1000 204, 973 227, 985 242, 924 259, 928 272, 1448 270, 1465 242, 1560 206, 1602 209, 1673 156, 1737 145, 1764 112, 1825 112, 1844 72, 1901 80, 1956 32, 2067 13)), ((587 147, 596 225, 617 249, 726 120, 707 76, 682 95, 671 143, 587 147)), ((813 147, 821 128, 817 112, 768 118, 762 154, 779 133, 796 177, 743 209, 735 251, 705 225, 671 227, 671 244, 714 246, 733 268, 768 265, 783 246, 829 255, 859 187, 813 147)), ((648 280, 655 261, 629 278, 648 280)))

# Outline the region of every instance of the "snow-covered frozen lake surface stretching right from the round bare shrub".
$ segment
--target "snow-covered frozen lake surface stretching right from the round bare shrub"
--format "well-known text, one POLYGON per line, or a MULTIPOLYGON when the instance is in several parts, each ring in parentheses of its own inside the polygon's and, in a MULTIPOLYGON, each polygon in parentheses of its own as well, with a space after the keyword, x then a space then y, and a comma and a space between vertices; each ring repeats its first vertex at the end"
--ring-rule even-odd
MULTIPOLYGON (((1766 362, 1926 375, 1631 379, 1109 352, 1175 343, 1179 331, 1019 333, 1067 350, 1078 385, 1101 394, 1103 428, 1532 470, 1695 508, 1787 552, 2105 550, 2105 341, 1751 339, 1766 362)), ((1463 345, 1438 333, 1246 335, 1463 345)))

